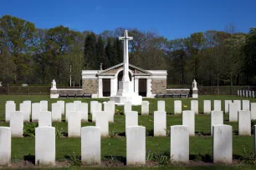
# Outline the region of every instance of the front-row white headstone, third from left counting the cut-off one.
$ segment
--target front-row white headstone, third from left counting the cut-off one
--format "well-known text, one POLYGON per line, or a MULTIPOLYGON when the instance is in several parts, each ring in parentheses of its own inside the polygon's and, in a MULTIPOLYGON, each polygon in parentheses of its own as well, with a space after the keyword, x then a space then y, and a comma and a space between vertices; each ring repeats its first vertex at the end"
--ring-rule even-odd
POLYGON ((81 162, 100 165, 100 127, 81 128, 81 162))

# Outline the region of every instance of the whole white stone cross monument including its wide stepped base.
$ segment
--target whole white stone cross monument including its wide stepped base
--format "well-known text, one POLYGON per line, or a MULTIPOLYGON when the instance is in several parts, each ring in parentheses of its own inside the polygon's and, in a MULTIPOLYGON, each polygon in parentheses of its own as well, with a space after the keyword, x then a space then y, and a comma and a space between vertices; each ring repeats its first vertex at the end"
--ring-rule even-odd
POLYGON ((124 71, 122 81, 119 82, 119 89, 115 96, 110 97, 110 101, 115 101, 117 105, 124 105, 125 102, 131 102, 132 105, 141 105, 142 97, 133 92, 129 77, 129 49, 128 41, 133 37, 128 37, 128 31, 125 30, 125 36, 119 37, 124 40, 124 71))

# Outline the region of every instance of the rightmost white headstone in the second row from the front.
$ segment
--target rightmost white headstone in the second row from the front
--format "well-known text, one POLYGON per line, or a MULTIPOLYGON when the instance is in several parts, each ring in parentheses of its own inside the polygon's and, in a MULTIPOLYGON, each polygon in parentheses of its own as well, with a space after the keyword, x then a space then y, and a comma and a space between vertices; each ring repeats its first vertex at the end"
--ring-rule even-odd
POLYGON ((249 111, 238 112, 238 134, 251 136, 251 113, 249 111))

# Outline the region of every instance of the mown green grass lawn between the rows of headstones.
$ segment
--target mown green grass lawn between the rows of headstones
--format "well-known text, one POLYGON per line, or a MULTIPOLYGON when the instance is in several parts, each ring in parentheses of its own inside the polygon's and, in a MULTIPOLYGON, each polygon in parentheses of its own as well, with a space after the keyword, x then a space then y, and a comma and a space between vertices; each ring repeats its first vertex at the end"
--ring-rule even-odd
MULTIPOLYGON (((224 100, 234 100, 234 99, 248 99, 251 102, 256 102, 256 99, 245 98, 245 97, 233 97, 233 96, 200 96, 199 101, 199 112, 202 113, 203 100, 222 100, 222 108, 224 110, 224 100)), ((9 126, 7 122, 4 122, 4 107, 5 102, 8 100, 14 100, 17 104, 17 110, 19 109, 19 103, 24 100, 31 100, 32 102, 39 102, 40 100, 49 101, 49 110, 51 110, 51 103, 56 102, 58 99, 50 99, 49 96, 0 96, 0 126, 9 126)), ((92 99, 63 99, 65 102, 73 102, 74 100, 81 100, 82 102, 90 102, 92 99)), ((94 99, 97 100, 97 99, 94 99)), ((100 99, 103 102, 107 99, 100 99)), ((147 152, 161 153, 162 151, 170 151, 170 137, 166 138, 156 138, 152 137, 153 130, 153 112, 157 109, 157 100, 166 101, 166 112, 167 112, 167 131, 169 131, 172 125, 182 124, 182 115, 174 115, 174 100, 182 100, 182 110, 190 109, 190 101, 192 99, 173 99, 173 98, 157 98, 157 99, 146 99, 150 101, 150 115, 149 116, 139 116, 139 125, 146 127, 146 150, 147 152)), ((116 107, 117 109, 123 110, 123 107, 116 107)), ((141 112, 141 107, 132 107, 133 110, 141 112)), ((90 111, 90 109, 89 109, 90 111)), ((89 116, 91 120, 91 117, 89 116)), ((64 117, 63 117, 64 120, 64 117)), ((190 159, 198 161, 198 155, 200 155, 200 160, 205 163, 212 162, 212 137, 211 133, 211 121, 210 115, 199 114, 196 115, 195 119, 196 125, 196 137, 190 138, 190 159)), ((236 132, 238 131, 237 122, 228 122, 228 115, 224 115, 224 123, 233 126, 233 157, 235 160, 248 158, 250 153, 253 152, 253 136, 252 137, 239 137, 236 132)), ((83 122, 84 126, 94 126, 95 122, 83 122)), ((67 133, 67 122, 54 122, 53 126, 56 131, 67 133)), ((115 115, 115 122, 110 123, 110 135, 111 138, 102 138, 101 140, 101 157, 102 159, 108 159, 111 157, 120 158, 125 160, 125 116, 115 115)), ((64 161, 67 157, 73 153, 80 154, 80 138, 56 138, 56 159, 59 161, 64 161)), ((34 155, 34 138, 12 138, 12 160, 13 162, 24 160, 34 155)), ((210 168, 187 168, 179 167, 179 169, 250 169, 250 167, 210 167, 210 168)), ((94 168, 95 169, 95 168, 94 168)), ((131 169, 131 168, 129 168, 131 169)), ((133 169, 133 168, 132 168, 133 169)), ((144 168, 134 168, 134 169, 144 169, 144 168)), ((145 168, 145 169, 155 169, 155 168, 145 168)), ((163 168, 165 169, 165 168, 163 168)), ((169 168, 166 168, 169 169, 169 168)))

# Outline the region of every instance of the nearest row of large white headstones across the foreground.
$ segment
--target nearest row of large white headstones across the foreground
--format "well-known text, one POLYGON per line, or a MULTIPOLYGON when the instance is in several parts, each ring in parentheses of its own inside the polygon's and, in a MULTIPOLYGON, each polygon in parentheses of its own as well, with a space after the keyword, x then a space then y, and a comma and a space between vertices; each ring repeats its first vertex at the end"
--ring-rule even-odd
MULTIPOLYGON (((256 126, 254 126, 254 129, 256 126)), ((81 162, 100 164, 100 127, 81 128, 81 162)), ((254 135, 256 130, 254 130, 254 135)), ((233 128, 230 125, 214 125, 213 163, 233 162, 233 128), (223 146, 225 146, 223 148, 223 146)), ((0 165, 11 163, 11 128, 0 127, 0 165)), ((254 141, 255 145, 255 141, 254 141)), ((171 126, 171 161, 189 162, 189 128, 184 125, 171 126)), ((55 128, 35 129, 35 163, 54 165, 55 128), (45 140, 47 138, 47 140, 45 140)), ((131 126, 126 128, 126 164, 146 164, 146 128, 131 126)))

